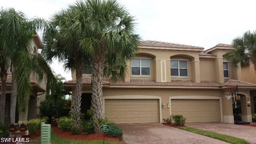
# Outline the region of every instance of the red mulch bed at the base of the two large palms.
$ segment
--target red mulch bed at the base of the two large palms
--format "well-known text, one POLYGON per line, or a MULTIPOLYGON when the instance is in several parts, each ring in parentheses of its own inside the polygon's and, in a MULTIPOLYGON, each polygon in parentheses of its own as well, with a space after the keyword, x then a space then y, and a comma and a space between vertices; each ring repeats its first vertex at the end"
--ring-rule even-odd
MULTIPOLYGON (((75 140, 103 140, 104 133, 100 134, 86 134, 82 133, 79 135, 72 135, 71 132, 64 132, 56 126, 52 126, 52 132, 54 132, 57 136, 64 139, 75 139, 75 140)), ((123 140, 120 140, 119 138, 110 138, 105 134, 105 140, 111 141, 111 142, 124 142, 123 140)))

